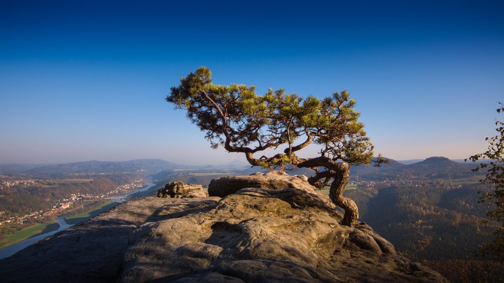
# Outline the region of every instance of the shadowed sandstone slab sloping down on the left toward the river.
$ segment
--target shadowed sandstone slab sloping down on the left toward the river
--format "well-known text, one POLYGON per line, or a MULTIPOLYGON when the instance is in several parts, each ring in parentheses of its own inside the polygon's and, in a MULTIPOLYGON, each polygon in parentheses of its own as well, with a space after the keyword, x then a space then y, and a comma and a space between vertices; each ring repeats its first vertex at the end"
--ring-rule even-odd
POLYGON ((0 282, 115 282, 130 236, 168 200, 191 201, 149 197, 124 202, 0 260, 0 282))

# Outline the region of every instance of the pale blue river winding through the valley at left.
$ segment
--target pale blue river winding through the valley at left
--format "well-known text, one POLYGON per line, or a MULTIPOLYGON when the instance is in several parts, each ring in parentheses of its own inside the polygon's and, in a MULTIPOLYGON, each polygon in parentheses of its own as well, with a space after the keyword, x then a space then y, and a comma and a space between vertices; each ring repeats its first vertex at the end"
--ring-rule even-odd
MULTIPOLYGON (((147 183, 146 187, 140 188, 140 189, 133 191, 131 193, 126 193, 126 194, 120 195, 119 197, 113 197, 113 198, 111 198, 111 200, 115 201, 115 202, 124 202, 124 201, 128 200, 128 197, 130 195, 132 195, 136 192, 146 191, 146 190, 152 188, 153 186, 155 186, 155 184, 147 183)), ((65 222, 66 217, 67 217, 67 215, 61 215, 56 218, 56 222, 59 224, 58 230, 54 230, 54 231, 47 232, 47 233, 44 233, 44 234, 41 234, 41 235, 38 235, 35 237, 31 237, 26 240, 9 245, 7 247, 1 248, 0 249, 0 259, 11 256, 11 255, 17 253, 18 251, 28 247, 29 245, 34 244, 35 242, 38 242, 46 237, 49 237, 49 236, 56 234, 57 232, 60 232, 60 231, 63 231, 69 227, 72 227, 73 225, 70 225, 67 222, 65 222)))

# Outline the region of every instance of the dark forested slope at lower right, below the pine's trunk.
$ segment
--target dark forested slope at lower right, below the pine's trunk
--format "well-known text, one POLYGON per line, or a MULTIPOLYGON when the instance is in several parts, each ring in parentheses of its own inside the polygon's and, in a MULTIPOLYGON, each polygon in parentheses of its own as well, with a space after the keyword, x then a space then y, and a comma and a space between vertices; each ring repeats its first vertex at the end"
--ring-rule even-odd
POLYGON ((452 282, 504 281, 500 272, 504 264, 479 253, 479 246, 492 240, 497 226, 492 222, 480 224, 487 208, 477 203, 478 192, 491 186, 456 180, 380 182, 346 190, 345 195, 359 206, 360 221, 401 253, 452 282))

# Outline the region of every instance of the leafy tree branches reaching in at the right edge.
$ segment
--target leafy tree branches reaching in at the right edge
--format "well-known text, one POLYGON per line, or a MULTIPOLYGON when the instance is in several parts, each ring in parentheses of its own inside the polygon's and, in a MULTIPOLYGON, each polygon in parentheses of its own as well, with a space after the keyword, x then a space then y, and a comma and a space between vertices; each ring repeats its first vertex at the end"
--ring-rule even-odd
MULTIPOLYGON (((504 104, 499 102, 499 105, 497 113, 504 112, 504 104)), ((471 156, 469 160, 476 162, 480 159, 488 159, 487 162, 480 163, 473 171, 487 170, 485 179, 480 182, 493 185, 493 190, 483 193, 479 203, 487 204, 490 210, 486 216, 490 220, 499 222, 500 227, 493 233, 495 235, 493 242, 483 247, 483 253, 504 260, 504 122, 495 119, 495 126, 497 126, 495 128, 497 134, 485 138, 488 142, 488 150, 471 156)), ((484 224, 487 222, 483 221, 484 224)))

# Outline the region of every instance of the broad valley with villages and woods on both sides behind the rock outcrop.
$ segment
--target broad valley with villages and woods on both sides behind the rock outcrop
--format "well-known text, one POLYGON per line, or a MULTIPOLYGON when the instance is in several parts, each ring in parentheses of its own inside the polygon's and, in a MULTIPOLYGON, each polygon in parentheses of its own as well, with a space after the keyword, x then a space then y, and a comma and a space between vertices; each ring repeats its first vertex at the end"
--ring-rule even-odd
MULTIPOLYGON (((356 166, 351 169, 345 195, 357 203, 360 221, 401 253, 452 282, 479 282, 481 274, 487 281, 501 280, 496 266, 504 266, 478 252, 483 242, 492 239, 496 224, 480 224, 486 207, 477 203, 478 191, 490 187, 479 183, 483 173, 472 172, 474 167, 441 157, 408 165, 391 160, 380 167, 356 166)), ((114 207, 111 197, 142 187, 144 180, 151 180, 154 186, 132 197, 153 195, 172 181, 207 188, 214 178, 267 171, 249 166, 179 166, 158 160, 50 168, 0 172, 0 245, 54 229, 51 223, 62 214, 69 214, 69 224, 88 219, 114 207)), ((307 169, 286 172, 310 174, 307 169)), ((320 192, 329 194, 329 187, 320 192)))

